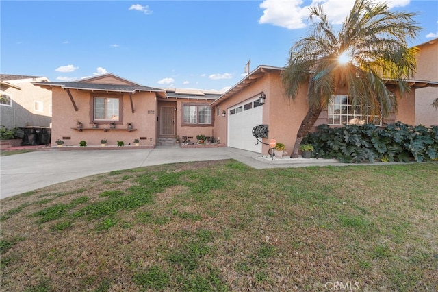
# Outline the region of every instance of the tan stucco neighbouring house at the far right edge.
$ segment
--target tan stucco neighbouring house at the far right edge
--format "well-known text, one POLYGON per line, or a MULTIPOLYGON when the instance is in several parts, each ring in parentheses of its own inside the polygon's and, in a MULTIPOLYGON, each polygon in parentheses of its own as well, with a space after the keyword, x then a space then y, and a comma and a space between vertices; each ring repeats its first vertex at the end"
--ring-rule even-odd
MULTIPOLYGON (((417 46, 416 80, 438 80, 438 38, 417 46)), ((438 88, 427 87, 415 92, 415 125, 438 125, 438 109, 432 108, 434 99, 438 98, 438 88)))

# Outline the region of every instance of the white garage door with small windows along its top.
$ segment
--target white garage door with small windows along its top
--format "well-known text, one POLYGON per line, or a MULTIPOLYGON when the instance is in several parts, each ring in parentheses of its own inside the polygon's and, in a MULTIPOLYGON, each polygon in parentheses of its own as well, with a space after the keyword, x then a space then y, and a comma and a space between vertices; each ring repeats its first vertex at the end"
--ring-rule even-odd
POLYGON ((228 146, 261 153, 261 143, 253 136, 253 127, 263 122, 259 99, 245 101, 228 109, 228 146))

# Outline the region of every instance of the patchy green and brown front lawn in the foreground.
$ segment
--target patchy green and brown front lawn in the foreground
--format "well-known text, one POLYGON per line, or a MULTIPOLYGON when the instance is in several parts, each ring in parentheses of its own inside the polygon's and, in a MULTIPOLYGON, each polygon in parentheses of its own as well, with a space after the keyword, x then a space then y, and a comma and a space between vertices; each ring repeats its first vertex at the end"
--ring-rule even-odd
POLYGON ((223 160, 57 184, 1 200, 1 287, 437 291, 437 177, 437 163, 223 160))

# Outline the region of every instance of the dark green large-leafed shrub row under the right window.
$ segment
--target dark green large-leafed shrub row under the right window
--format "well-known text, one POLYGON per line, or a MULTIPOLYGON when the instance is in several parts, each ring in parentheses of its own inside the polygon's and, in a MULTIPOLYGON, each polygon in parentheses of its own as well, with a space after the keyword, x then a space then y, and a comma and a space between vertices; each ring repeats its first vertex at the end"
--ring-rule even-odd
POLYGON ((320 125, 302 144, 311 144, 322 158, 341 162, 417 162, 438 159, 438 126, 406 125, 401 122, 376 125, 320 125))

